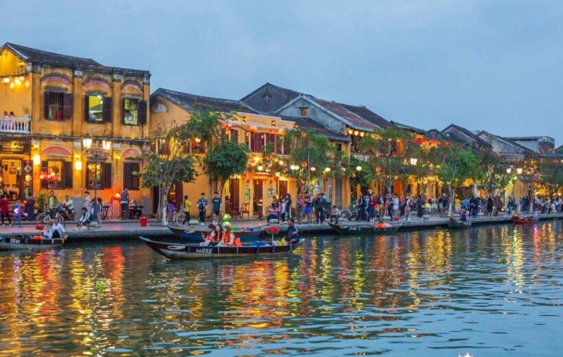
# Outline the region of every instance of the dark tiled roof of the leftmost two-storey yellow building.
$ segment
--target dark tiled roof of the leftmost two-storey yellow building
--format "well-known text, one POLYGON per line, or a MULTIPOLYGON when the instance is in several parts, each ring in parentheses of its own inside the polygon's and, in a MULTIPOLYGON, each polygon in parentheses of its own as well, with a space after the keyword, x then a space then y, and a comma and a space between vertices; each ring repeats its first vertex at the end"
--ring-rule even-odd
POLYGON ((82 58, 75 56, 67 56, 65 54, 56 54, 54 52, 43 51, 16 45, 14 43, 5 43, 1 48, 8 48, 14 51, 18 56, 22 57, 26 62, 32 62, 34 65, 44 65, 52 67, 69 67, 76 69, 91 69, 93 71, 109 71, 126 74, 143 76, 149 74, 149 71, 141 71, 138 69, 126 69, 120 67, 107 67, 91 58, 82 58))

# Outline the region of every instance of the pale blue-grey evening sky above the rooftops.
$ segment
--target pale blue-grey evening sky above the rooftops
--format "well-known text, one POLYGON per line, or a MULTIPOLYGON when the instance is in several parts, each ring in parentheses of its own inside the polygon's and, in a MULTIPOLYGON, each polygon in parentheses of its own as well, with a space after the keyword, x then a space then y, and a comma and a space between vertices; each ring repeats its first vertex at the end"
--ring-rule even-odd
POLYGON ((13 1, 0 42, 147 69, 159 87, 240 99, 262 84, 563 144, 563 1, 13 1))

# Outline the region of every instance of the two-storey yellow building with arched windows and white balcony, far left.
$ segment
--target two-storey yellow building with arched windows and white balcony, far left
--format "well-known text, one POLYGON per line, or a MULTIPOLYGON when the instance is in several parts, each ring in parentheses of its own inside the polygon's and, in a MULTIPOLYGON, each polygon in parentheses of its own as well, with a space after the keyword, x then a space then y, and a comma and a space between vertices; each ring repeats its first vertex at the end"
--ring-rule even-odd
POLYGON ((84 192, 94 189, 95 162, 104 203, 124 187, 137 202, 150 196, 139 187, 138 161, 150 150, 148 71, 6 43, 0 80, 1 180, 10 198, 52 189, 80 208, 84 192), (91 150, 82 145, 86 136, 91 150))

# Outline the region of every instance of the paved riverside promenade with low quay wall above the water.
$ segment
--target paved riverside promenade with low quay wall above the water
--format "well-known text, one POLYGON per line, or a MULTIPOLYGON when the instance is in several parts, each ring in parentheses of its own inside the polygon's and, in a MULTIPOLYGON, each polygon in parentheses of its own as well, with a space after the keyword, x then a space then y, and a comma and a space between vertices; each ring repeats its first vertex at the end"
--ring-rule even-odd
MULTIPOLYGON (((561 220, 563 214, 541 214, 540 220, 561 220)), ((474 226, 487 225, 487 224, 512 224, 512 217, 508 215, 500 215, 497 217, 479 216, 479 218, 472 218, 471 221, 474 226)), ((448 218, 440 217, 437 214, 431 214, 427 221, 420 220, 417 217, 411 218, 410 221, 401 221, 403 223, 401 231, 416 231, 422 229, 435 229, 437 227, 446 227, 448 218)), ((12 223, 14 223, 12 221, 12 223)), ((209 223, 209 222, 208 222, 209 223)), ((207 223, 207 224, 208 224, 207 223)), ((348 221, 344 220, 343 224, 348 221)), ((358 222, 352 221, 349 224, 357 224, 358 222)), ((206 224, 206 225, 207 225, 206 224)), ((246 219, 246 220, 231 220, 232 227, 256 227, 266 224, 266 220, 246 219)), ((154 219, 149 220, 147 227, 141 227, 138 220, 104 220, 100 228, 91 231, 74 231, 76 227, 75 221, 69 221, 66 225, 66 230, 69 236, 69 242, 99 242, 104 240, 130 240, 137 239, 139 235, 146 237, 158 238, 170 236, 172 233, 168 227, 163 227, 160 224, 155 224, 154 219)), ((191 226, 192 229, 201 229, 202 226, 191 226)), ((280 233, 287 230, 287 226, 276 224, 279 227, 280 233)), ((328 225, 323 224, 297 224, 301 233, 308 234, 336 234, 328 225)), ((35 229, 35 222, 22 222, 22 227, 17 225, 0 226, 0 234, 5 233, 37 233, 35 229)))

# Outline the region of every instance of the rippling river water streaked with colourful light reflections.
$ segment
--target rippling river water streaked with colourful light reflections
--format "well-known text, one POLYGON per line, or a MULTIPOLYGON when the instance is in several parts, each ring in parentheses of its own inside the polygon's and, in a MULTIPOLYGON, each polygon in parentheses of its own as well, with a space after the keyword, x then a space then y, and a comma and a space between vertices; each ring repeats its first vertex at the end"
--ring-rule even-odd
POLYGON ((0 355, 555 356, 561 233, 327 236, 215 262, 136 243, 0 253, 0 355))

